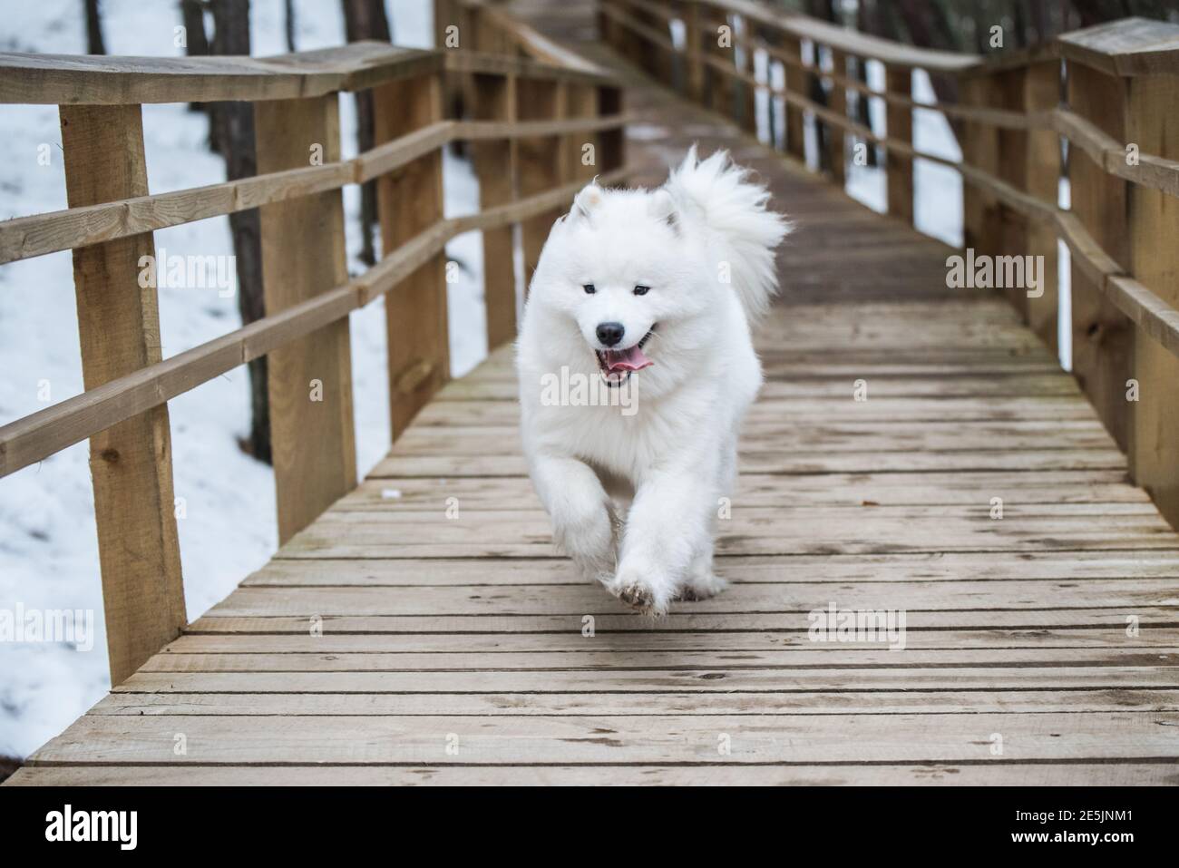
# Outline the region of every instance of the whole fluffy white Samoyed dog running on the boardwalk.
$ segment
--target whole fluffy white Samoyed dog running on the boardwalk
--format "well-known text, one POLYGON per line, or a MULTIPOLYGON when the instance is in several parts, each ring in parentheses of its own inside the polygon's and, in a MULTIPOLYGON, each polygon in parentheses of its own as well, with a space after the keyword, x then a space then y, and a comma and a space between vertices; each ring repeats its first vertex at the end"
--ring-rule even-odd
POLYGON ((529 475, 578 568, 648 614, 725 586, 714 524, 789 231, 768 199, 693 146, 658 190, 581 190, 533 275, 516 344, 529 475))

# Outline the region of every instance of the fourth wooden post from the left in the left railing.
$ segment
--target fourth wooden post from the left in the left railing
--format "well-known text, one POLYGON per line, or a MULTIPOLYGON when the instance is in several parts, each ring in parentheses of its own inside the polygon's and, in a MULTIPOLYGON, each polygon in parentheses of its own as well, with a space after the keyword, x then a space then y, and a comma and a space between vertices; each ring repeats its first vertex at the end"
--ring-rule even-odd
MULTIPOLYGON (((475 75, 475 118, 515 120, 514 75, 475 75)), ((515 197, 516 158, 511 139, 473 145, 479 175, 481 210, 506 205, 515 197)), ((513 226, 483 230, 483 301, 487 307, 487 348, 495 349, 516 333, 516 278, 513 226)))

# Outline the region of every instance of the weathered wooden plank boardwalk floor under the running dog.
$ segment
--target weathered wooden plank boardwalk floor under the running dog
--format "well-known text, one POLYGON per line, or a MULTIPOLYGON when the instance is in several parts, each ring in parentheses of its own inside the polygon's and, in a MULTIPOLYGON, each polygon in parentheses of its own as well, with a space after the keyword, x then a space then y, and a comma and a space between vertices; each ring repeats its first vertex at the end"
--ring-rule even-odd
POLYGON ((798 223, 732 586, 653 622, 574 576, 501 349, 11 783, 1179 783, 1179 535, 1073 377, 948 248, 630 94, 639 183, 725 143, 798 223), (904 650, 811 640, 832 604, 904 650))

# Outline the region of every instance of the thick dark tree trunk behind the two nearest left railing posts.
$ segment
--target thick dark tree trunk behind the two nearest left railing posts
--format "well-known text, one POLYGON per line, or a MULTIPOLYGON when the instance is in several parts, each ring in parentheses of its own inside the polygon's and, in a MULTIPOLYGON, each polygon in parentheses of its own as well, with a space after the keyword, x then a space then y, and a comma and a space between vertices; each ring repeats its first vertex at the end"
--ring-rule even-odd
MULTIPOLYGON (((212 0, 215 54, 250 53, 250 0, 212 0)), ((212 106, 212 139, 225 158, 230 180, 258 173, 253 146, 253 106, 249 103, 216 103, 212 106)), ((237 257, 237 308, 242 324, 265 316, 262 297, 262 230, 258 209, 230 215, 233 255, 237 257)), ((250 371, 250 434, 243 443, 259 461, 271 462, 270 402, 266 396, 266 359, 256 359, 250 371)))

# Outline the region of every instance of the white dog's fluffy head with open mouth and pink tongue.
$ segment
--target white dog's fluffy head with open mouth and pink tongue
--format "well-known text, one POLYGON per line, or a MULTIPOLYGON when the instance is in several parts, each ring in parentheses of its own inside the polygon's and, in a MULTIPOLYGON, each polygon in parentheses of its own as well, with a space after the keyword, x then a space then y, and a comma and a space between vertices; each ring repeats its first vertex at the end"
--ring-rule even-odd
POLYGON ((702 242, 687 217, 666 190, 590 184, 545 244, 529 304, 569 326, 566 340, 581 346, 567 351, 593 353, 611 386, 673 366, 676 338, 716 295, 700 285, 702 242))

